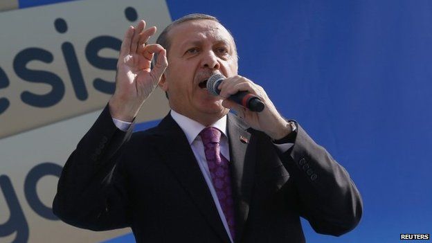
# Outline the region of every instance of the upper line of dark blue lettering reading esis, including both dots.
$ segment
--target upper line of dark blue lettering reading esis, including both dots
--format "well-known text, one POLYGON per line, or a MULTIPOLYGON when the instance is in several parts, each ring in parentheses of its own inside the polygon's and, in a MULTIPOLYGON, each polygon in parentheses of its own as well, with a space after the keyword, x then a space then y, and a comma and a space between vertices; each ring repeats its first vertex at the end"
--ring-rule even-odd
MULTIPOLYGON (((136 19, 138 19, 138 14, 135 8, 132 7, 125 8, 124 15, 129 21, 136 21, 136 19)), ((54 27, 57 33, 67 33, 68 26, 66 20, 62 18, 55 19, 54 27)), ((121 40, 116 37, 108 35, 94 37, 85 47, 85 56, 89 64, 97 69, 116 71, 117 59, 102 57, 98 53, 106 48, 120 51, 120 46, 121 40)), ((78 100, 87 100, 89 93, 84 82, 84 77, 82 75, 75 48, 71 42, 64 42, 61 47, 75 97, 78 100)), ((62 78, 50 71, 30 69, 27 66, 30 62, 44 62, 45 64, 51 64, 54 59, 55 57, 53 56, 53 53, 38 47, 25 48, 24 50, 19 51, 15 56, 13 60, 13 69, 21 80, 38 84, 48 84, 51 87, 51 91, 44 94, 23 91, 20 98, 26 105, 39 108, 53 107, 54 105, 57 105, 62 98, 64 98, 66 90, 62 78)), ((0 66, 0 89, 6 89, 8 86, 8 75, 0 66)), ((93 87, 101 93, 112 94, 115 89, 115 81, 95 78, 93 80, 93 87)), ((10 107, 10 101, 7 98, 0 98, 0 115, 3 114, 8 107, 10 107)))

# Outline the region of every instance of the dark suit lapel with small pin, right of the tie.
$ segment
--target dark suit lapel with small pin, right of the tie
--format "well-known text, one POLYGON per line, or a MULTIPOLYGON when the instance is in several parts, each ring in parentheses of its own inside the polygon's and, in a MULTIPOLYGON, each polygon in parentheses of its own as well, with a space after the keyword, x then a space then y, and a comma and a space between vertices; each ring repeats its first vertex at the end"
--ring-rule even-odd
POLYGON ((228 114, 228 140, 230 145, 231 181, 235 201, 235 242, 240 242, 249 214, 249 203, 255 173, 256 145, 249 128, 237 116, 228 114), (247 155, 246 155, 247 154, 247 155))

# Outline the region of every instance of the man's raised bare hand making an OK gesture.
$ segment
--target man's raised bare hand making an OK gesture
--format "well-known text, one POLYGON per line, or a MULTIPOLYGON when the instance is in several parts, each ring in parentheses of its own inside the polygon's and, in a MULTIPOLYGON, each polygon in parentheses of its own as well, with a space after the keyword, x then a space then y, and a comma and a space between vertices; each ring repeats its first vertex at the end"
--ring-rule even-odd
POLYGON ((145 29, 144 20, 125 33, 117 62, 116 91, 109 100, 113 118, 132 121, 168 66, 166 50, 159 44, 146 44, 154 33, 156 27, 145 29), (154 53, 158 57, 150 69, 154 53))

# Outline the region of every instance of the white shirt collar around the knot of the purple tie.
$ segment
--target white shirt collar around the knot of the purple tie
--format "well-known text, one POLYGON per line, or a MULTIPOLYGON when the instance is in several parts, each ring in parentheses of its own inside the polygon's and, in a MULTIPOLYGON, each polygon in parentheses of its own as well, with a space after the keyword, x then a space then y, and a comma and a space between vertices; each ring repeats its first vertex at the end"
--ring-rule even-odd
MULTIPOLYGON (((192 120, 186 116, 183 116, 177 113, 174 110, 171 110, 171 116, 179 124, 180 128, 186 134, 186 138, 188 138, 189 145, 197 138, 198 134, 202 131, 202 129, 206 128, 201 123, 198 123, 196 120, 192 120)), ((226 115, 210 125, 210 127, 216 127, 219 129, 222 134, 225 135, 226 138, 226 115)))

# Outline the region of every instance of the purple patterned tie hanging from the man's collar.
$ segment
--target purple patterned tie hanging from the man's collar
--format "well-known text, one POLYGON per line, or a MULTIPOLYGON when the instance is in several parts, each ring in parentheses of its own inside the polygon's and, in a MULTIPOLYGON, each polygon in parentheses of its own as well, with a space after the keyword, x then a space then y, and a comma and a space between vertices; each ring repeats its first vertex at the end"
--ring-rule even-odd
POLYGON ((224 211, 231 236, 234 240, 234 204, 228 160, 219 151, 221 132, 215 127, 204 128, 199 135, 204 144, 208 169, 215 187, 217 199, 224 211))

